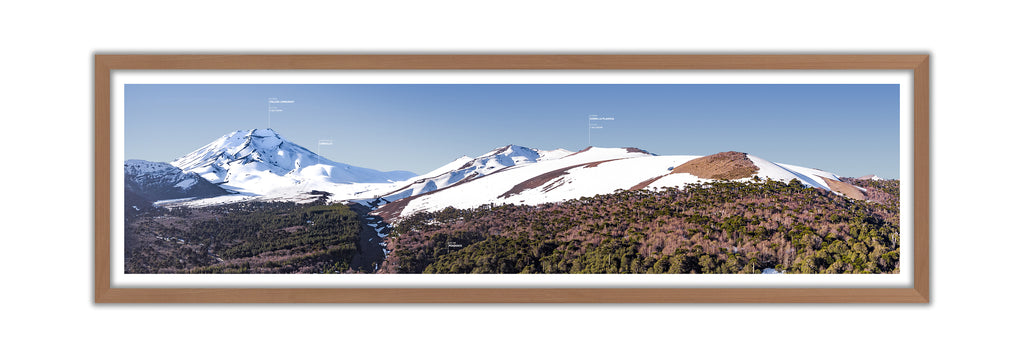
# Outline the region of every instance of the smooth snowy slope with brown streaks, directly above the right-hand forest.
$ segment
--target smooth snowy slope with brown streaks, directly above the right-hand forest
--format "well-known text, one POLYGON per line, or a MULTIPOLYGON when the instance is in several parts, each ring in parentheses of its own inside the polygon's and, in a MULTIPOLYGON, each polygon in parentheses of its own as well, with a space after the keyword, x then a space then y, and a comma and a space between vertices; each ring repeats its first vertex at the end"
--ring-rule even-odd
MULTIPOLYGON (((797 180, 805 186, 821 188, 837 194, 855 193, 857 188, 839 186, 836 174, 800 166, 776 164, 746 153, 738 154, 749 167, 735 181, 772 179, 797 180), (852 191, 851 191, 852 190, 852 191)), ((675 171, 690 161, 712 155, 654 155, 635 148, 588 148, 553 161, 518 165, 459 183, 449 190, 436 190, 402 198, 384 206, 378 213, 396 218, 418 212, 437 211, 447 207, 471 209, 481 205, 539 205, 563 202, 583 196, 612 193, 616 190, 680 187, 692 183, 721 180, 702 172, 675 171)), ((718 162, 709 162, 710 166, 718 162)))

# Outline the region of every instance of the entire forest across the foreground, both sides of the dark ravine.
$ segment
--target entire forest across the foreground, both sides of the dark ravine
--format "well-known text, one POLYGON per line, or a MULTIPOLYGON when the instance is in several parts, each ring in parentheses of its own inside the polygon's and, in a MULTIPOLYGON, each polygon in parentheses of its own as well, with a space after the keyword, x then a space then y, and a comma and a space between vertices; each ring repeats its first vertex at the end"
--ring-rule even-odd
MULTIPOLYGON (((866 200, 755 178, 419 213, 393 223, 376 272, 899 272, 899 181, 844 181, 866 200)), ((126 219, 125 272, 372 272, 380 257, 353 269, 360 234, 376 238, 365 218, 326 197, 143 212, 126 219)))

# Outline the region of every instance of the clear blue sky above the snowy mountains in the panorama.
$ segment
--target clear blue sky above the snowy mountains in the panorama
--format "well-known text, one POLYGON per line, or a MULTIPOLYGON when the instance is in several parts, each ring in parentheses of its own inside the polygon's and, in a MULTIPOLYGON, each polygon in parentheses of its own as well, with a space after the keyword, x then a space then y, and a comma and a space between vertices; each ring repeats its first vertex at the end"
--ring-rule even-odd
POLYGON ((268 115, 286 139, 333 139, 324 156, 377 170, 422 174, 506 144, 579 150, 598 115, 614 121, 590 131, 595 146, 899 177, 898 85, 127 85, 125 158, 170 162, 268 115))

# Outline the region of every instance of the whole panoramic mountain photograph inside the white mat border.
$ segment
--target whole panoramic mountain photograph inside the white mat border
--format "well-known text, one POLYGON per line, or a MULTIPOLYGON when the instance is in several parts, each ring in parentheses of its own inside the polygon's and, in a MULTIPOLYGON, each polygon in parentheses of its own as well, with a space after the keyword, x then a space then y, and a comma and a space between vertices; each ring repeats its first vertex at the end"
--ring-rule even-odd
POLYGON ((126 274, 897 274, 895 84, 128 84, 126 274))

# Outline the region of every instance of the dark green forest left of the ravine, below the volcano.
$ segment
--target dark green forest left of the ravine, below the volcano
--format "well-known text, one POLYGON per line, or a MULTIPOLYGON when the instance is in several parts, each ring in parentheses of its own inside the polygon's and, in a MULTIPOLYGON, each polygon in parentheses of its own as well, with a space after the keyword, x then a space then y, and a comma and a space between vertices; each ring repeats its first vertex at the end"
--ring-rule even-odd
POLYGON ((160 210, 126 223, 129 273, 335 273, 357 254, 344 205, 250 202, 160 210))

